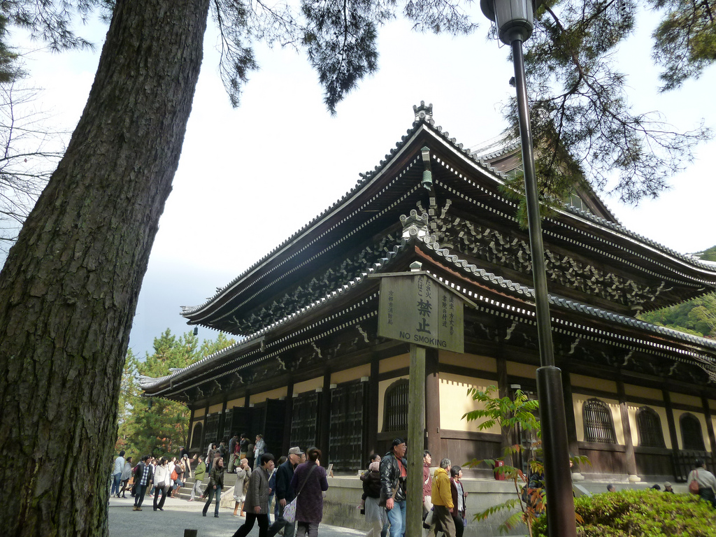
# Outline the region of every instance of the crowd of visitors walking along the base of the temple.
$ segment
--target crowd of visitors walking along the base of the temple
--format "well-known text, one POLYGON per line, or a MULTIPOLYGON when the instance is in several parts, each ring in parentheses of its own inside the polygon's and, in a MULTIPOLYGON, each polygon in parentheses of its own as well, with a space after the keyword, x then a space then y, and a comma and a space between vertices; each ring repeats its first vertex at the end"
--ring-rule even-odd
MULTIPOLYGON (((407 446, 402 438, 392 441, 390 450, 382 457, 371 456, 367 470, 362 473, 363 495, 359 507, 365 514, 370 530, 366 537, 405 536, 407 500, 407 446)), ((233 488, 233 516, 246 521, 233 537, 246 537, 258 523, 258 537, 274 537, 281 532, 284 537, 317 537, 319 523, 323 518, 323 495, 328 490, 326 470, 321 467, 321 450, 310 448, 306 453, 299 447, 289 449, 286 456, 275 460, 266 450, 262 435, 250 442, 243 434, 233 435, 208 446, 207 455, 189 458, 181 448, 179 458, 154 458, 144 455, 133 466, 132 458, 124 458, 120 451, 112 468, 111 495, 126 498, 128 482, 133 478, 130 494, 134 496, 134 510, 142 511, 142 502, 149 489, 153 497, 154 511, 163 511, 167 495, 174 497, 186 478, 195 478, 188 501, 197 496, 205 500, 202 515, 206 516, 212 501, 214 516, 219 516, 221 493, 226 472, 236 474, 233 488), (225 458, 228 465, 224 465, 225 458), (253 461, 253 464, 252 464, 253 461), (194 468, 194 470, 192 470, 194 468), (209 476, 205 490, 201 485, 209 476), (271 504, 274 507, 274 523, 271 523, 271 504)), ((444 533, 445 537, 463 537, 467 525, 466 504, 468 493, 462 483, 463 471, 448 458, 431 475, 432 455, 423 452, 422 508, 423 525, 428 537, 444 533)), ((716 478, 697 460, 695 470, 689 474, 690 492, 710 502, 716 508, 716 478)), ((655 490, 661 490, 655 485, 655 490)), ((614 492, 614 485, 607 491, 614 492)), ((664 492, 674 493, 671 483, 664 483, 664 492)))

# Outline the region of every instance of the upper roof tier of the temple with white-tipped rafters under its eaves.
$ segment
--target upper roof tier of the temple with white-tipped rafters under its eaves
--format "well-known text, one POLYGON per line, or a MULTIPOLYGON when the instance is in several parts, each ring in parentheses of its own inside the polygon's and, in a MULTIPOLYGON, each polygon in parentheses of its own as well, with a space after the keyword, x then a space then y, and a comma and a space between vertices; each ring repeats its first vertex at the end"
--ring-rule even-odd
MULTIPOLYGON (((503 175, 463 149, 442 127, 435 126, 432 105, 426 107, 421 102, 414 111, 416 120, 407 135, 373 171, 360 174, 354 188, 218 289, 211 299, 200 306, 183 307, 181 314, 189 324, 233 334, 258 334, 280 319, 304 311, 320 296, 350 285, 362 265, 382 258, 385 249, 399 247, 400 237, 391 235, 394 228, 390 226, 397 226, 397 215, 409 211, 409 206, 420 206, 420 200, 427 195, 420 188, 424 166, 420 149, 426 145, 430 147, 433 185, 436 191, 440 189, 441 200, 447 196, 455 206, 460 205, 460 211, 477 211, 485 221, 495 219, 500 226, 518 230, 514 216, 517 204, 498 190, 504 184, 503 175), (354 246, 362 250, 354 251, 354 246)), ((545 238, 551 238, 551 244, 546 244, 548 250, 556 246, 579 251, 591 256, 589 259, 609 263, 612 272, 624 269, 639 278, 643 276, 644 281, 665 281, 664 293, 671 283, 682 286, 691 294, 682 300, 716 289, 716 266, 712 263, 684 256, 619 223, 571 205, 564 205, 556 216, 546 219, 543 233, 545 238)), ((563 253, 554 255, 564 258, 563 253)), ((521 281, 525 284, 528 279, 521 281)), ((661 292, 658 284, 657 281, 645 287, 643 282, 637 282, 634 289, 648 287, 661 292)), ((574 294, 567 294, 574 299, 574 294)), ((673 303, 676 294, 677 291, 664 294, 644 307, 655 309, 667 300, 673 303)))

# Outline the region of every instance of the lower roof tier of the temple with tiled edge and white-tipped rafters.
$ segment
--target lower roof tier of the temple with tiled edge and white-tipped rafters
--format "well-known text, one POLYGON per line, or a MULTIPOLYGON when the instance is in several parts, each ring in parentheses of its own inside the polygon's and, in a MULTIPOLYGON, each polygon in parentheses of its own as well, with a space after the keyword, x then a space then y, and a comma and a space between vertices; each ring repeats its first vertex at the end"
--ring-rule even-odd
MULTIPOLYGON (((428 269, 437 279, 475 301, 480 311, 503 319, 512 319, 521 324, 535 323, 532 302, 534 291, 531 287, 485 271, 438 243, 434 235, 425 234, 424 223, 427 221, 427 215, 418 216, 417 211, 411 211, 410 216, 403 216, 401 220, 405 223, 405 233, 400 243, 388 251, 385 257, 372 266, 367 266, 365 271, 348 284, 189 367, 159 379, 142 377, 140 387, 148 392, 147 395, 153 397, 177 398, 180 397, 178 395, 180 392, 184 394, 181 397, 187 397, 188 390, 200 390, 200 386, 208 382, 229 379, 227 382, 230 381, 232 386, 238 386, 246 380, 242 374, 239 374, 240 372, 246 373, 251 367, 269 359, 279 360, 285 368, 281 353, 291 349, 312 345, 320 354, 317 344, 321 339, 335 332, 357 326, 367 342, 367 335, 360 328, 360 324, 377 316, 377 290, 359 299, 358 302, 352 302, 354 300, 352 296, 359 292, 362 286, 377 284, 377 281, 367 278, 369 274, 394 270, 395 261, 402 253, 410 254, 412 248, 419 248, 426 253, 437 267, 448 269, 447 274, 462 274, 467 276, 470 282, 478 284, 477 287, 470 283, 465 285, 465 282, 456 284, 454 278, 448 278, 428 269), (518 299, 518 302, 515 303, 513 299, 518 299), (337 308, 335 313, 315 316, 312 322, 304 321, 304 319, 311 319, 309 316, 314 314, 314 310, 332 304, 334 304, 333 308, 337 308), (360 308, 363 309, 359 310, 360 308), (357 311, 360 311, 360 314, 356 314, 357 311), (281 332, 281 329, 287 331, 281 332), (316 329, 320 332, 316 333, 316 329)), ((407 263, 405 256, 403 258, 403 262, 407 263)), ((689 364, 697 362, 711 382, 716 382, 716 341, 714 340, 684 334, 560 296, 550 295, 548 299, 553 308, 553 332, 557 334, 608 343, 627 349, 629 353, 647 352, 677 362, 689 364), (579 317, 563 315, 566 311, 574 311, 579 317), (580 318, 586 319, 588 324, 579 321, 580 318), (616 330, 619 326, 627 328, 627 331, 619 332, 616 330), (637 332, 634 332, 634 329, 637 332), (709 354, 710 352, 712 354, 709 354)), ((515 326, 513 324, 508 332, 511 333, 515 326)), ((223 386, 223 384, 219 385, 223 386)))

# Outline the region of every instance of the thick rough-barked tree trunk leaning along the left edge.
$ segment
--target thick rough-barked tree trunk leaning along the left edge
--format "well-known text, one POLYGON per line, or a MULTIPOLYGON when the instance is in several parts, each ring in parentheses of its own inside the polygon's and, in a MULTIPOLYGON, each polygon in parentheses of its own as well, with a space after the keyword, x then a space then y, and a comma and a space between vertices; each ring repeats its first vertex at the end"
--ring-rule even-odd
POLYGON ((4 536, 104 536, 122 366, 209 0, 117 0, 67 153, 0 274, 4 536))

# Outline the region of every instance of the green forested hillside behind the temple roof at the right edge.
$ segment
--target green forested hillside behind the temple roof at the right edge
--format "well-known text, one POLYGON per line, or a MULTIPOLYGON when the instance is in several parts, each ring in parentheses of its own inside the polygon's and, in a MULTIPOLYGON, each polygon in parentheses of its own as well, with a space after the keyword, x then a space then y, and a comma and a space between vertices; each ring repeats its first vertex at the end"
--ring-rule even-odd
MULTIPOLYGON (((705 261, 716 261, 716 246, 695 255, 705 261)), ((716 294, 650 311, 639 315, 639 319, 697 336, 716 338, 716 294)))

